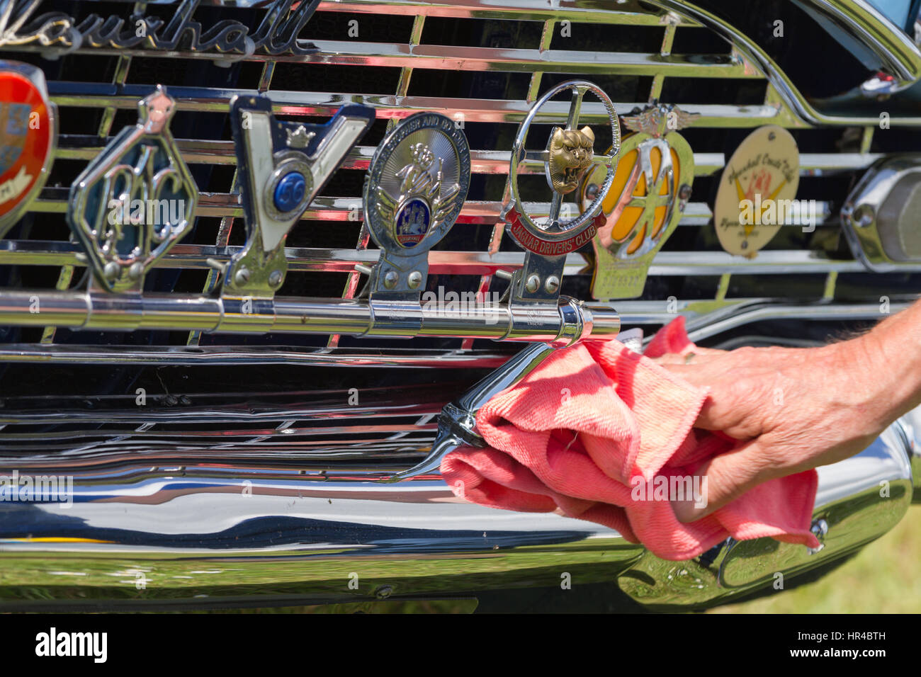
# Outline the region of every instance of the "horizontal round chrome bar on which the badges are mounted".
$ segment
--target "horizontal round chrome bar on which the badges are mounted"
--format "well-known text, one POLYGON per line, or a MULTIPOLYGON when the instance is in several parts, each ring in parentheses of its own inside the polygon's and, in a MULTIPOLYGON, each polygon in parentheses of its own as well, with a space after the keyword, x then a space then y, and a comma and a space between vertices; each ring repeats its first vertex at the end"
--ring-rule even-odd
MULTIPOLYGON (((128 332, 166 329, 339 333, 394 338, 388 325, 376 325, 376 311, 379 311, 379 304, 373 299, 214 298, 162 293, 134 296, 94 291, 0 292, 0 324, 128 332)), ((534 303, 520 308, 514 304, 480 304, 468 310, 426 304, 419 308, 419 320, 417 329, 400 337, 494 338, 568 344, 588 338, 591 332, 599 336, 620 332, 620 319, 610 307, 565 298, 560 298, 558 304, 534 303), (578 316, 575 322, 571 312, 574 307, 578 316), (574 327, 577 329, 575 335, 574 327)))

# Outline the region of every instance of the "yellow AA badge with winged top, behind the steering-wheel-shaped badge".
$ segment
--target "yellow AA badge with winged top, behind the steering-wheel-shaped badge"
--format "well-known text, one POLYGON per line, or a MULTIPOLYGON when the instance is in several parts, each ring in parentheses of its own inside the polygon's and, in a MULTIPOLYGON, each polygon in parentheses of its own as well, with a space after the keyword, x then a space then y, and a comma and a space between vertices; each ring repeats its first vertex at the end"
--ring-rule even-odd
MULTIPOLYGON (((635 134, 624 138, 611 193, 602 203, 605 221, 592 239, 593 298, 635 298, 643 293, 649 264, 678 227, 691 196, 694 153, 677 130, 698 117, 663 104, 624 116, 624 125, 635 134)), ((597 197, 603 179, 600 168, 586 176, 583 210, 597 197)))

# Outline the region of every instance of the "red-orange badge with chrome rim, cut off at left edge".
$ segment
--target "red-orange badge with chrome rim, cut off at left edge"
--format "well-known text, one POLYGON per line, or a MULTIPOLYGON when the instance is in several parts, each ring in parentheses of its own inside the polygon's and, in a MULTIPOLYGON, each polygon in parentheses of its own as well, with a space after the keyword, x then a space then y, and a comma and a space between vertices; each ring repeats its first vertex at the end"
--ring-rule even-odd
POLYGON ((54 138, 54 106, 41 70, 0 61, 0 237, 41 191, 54 138))

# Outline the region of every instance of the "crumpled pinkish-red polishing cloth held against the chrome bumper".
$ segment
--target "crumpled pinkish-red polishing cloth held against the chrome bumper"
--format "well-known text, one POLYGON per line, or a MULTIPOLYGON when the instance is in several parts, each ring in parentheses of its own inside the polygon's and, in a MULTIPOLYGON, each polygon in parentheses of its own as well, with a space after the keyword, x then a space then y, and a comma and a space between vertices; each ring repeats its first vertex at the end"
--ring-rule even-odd
POLYGON ((810 532, 814 470, 760 484, 690 524, 675 518, 673 493, 656 491, 662 478, 693 483, 706 459, 739 444, 693 428, 707 393, 649 359, 693 349, 679 317, 645 356, 616 340, 557 351, 484 405, 476 424, 489 448, 452 451, 442 476, 473 503, 588 519, 663 559, 690 559, 729 536, 818 547, 810 532))

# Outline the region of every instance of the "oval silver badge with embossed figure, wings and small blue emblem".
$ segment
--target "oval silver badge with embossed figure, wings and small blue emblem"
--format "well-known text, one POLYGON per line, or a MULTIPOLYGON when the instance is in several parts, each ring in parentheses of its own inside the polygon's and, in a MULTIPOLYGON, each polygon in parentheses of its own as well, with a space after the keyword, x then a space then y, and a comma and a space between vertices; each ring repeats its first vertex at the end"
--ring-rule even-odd
POLYGON ((419 298, 428 251, 461 214, 470 170, 467 137, 440 113, 415 113, 380 143, 364 192, 365 222, 381 249, 370 274, 372 298, 419 298))

